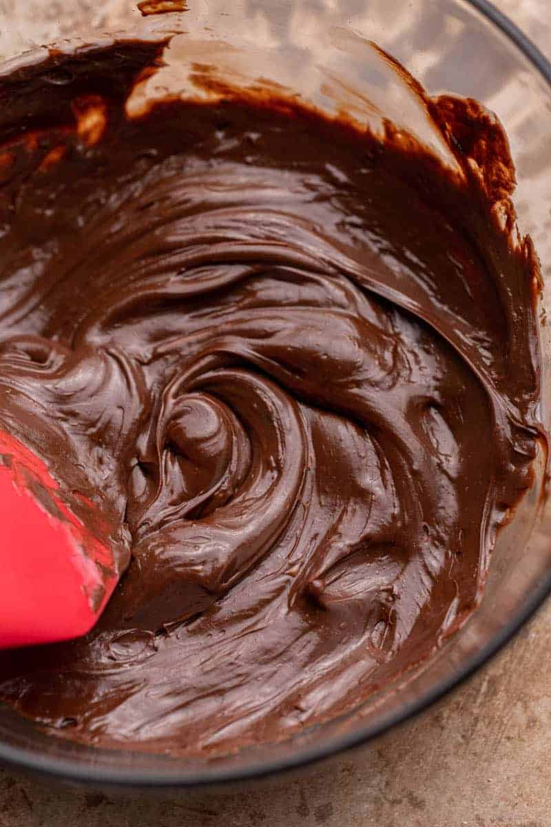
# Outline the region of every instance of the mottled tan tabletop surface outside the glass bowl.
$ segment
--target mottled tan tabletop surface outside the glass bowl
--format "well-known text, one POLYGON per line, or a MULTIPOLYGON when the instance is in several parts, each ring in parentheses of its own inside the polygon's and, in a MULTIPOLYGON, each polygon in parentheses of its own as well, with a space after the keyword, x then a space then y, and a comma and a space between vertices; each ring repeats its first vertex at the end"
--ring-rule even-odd
MULTIPOLYGON (((28 19, 44 2, 0 0, 0 12, 28 19)), ((551 55, 551 0, 496 2, 551 55)), ((102 6, 116 17, 117 4, 102 6)), ((458 691, 299 781, 119 801, 0 767, 0 827, 551 827, 550 630, 548 604, 458 691)))

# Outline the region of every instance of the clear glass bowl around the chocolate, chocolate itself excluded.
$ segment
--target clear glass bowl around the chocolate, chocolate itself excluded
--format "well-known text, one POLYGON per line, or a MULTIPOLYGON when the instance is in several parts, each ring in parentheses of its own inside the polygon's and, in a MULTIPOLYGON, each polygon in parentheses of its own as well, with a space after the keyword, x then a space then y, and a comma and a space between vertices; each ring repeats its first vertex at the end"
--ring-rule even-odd
MULTIPOLYGON (((78 43, 100 38, 107 43, 115 34, 164 38, 182 31, 185 35, 171 47, 172 75, 151 82, 160 93, 167 84, 183 88, 186 55, 190 50, 203 54, 208 45, 210 55, 216 52, 221 73, 239 76, 240 83, 277 80, 325 110, 344 103, 349 114, 368 122, 376 121, 381 110, 435 145, 434 135, 423 134, 419 112, 411 106, 411 96, 407 97, 396 73, 388 73, 387 62, 369 45, 374 41, 430 93, 477 98, 506 127, 517 170, 514 200, 520 227, 530 232, 542 264, 541 418, 549 430, 551 347, 544 321, 546 309, 551 308, 551 65, 544 55, 486 0, 244 0, 233 4, 231 12, 226 0, 192 0, 191 5, 183 14, 142 19, 132 0, 72 0, 64 3, 59 22, 55 5, 41 10, 33 4, 16 4, 15 11, 4 13, 7 25, 0 26, 4 61, 0 92, 2 74, 14 64, 40 60, 40 43, 55 41, 63 53, 78 43)), ((372 125, 377 127, 376 122, 372 125)), ((371 696, 349 714, 305 729, 292 739, 247 748, 216 761, 84 747, 48 737, 0 707, 0 760, 95 786, 182 788, 283 772, 375 738, 486 662, 549 595, 551 503, 544 496, 544 465, 544 457, 539 457, 533 490, 499 533, 477 611, 393 691, 371 696)))

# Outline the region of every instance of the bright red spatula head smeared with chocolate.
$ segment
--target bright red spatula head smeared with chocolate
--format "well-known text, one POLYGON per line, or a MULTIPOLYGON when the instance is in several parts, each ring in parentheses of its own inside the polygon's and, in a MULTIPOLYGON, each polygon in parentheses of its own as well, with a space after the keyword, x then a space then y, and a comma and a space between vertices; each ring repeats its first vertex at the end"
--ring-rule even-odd
POLYGON ((0 648, 87 633, 117 579, 45 463, 0 430, 0 648))

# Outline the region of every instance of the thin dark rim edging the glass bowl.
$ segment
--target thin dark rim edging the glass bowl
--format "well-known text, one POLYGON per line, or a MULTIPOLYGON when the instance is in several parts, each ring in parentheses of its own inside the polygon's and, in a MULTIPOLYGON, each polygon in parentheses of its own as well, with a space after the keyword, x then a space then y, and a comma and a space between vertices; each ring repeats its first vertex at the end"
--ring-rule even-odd
MULTIPOLYGON (((490 0, 467 0, 467 3, 475 11, 480 12, 482 17, 486 17, 517 46, 551 88, 551 61, 520 30, 519 26, 516 26, 490 0)), ((171 767, 168 772, 164 770, 151 772, 150 770, 132 769, 131 767, 99 767, 93 764, 79 766, 68 758, 38 755, 32 749, 13 747, 0 741, 0 762, 42 776, 57 777, 59 780, 83 782, 88 785, 105 787, 139 787, 141 790, 169 787, 184 789, 246 782, 275 773, 289 772, 298 767, 306 767, 324 758, 333 757, 345 750, 368 743, 368 741, 377 738, 389 729, 404 723, 427 709, 436 700, 466 681, 468 677, 473 675, 473 672, 476 672, 479 667, 482 667, 483 664, 496 655, 539 609, 550 594, 551 570, 528 595, 525 603, 511 618, 510 622, 503 626, 486 646, 469 657, 457 672, 439 681, 423 696, 407 702, 399 710, 382 715, 381 718, 363 727, 360 726, 358 729, 354 729, 353 732, 330 738, 318 746, 297 748, 294 753, 285 758, 270 758, 264 762, 256 762, 253 766, 235 768, 215 766, 193 772, 188 772, 185 769, 178 772, 178 765, 175 762, 174 767, 171 767)))

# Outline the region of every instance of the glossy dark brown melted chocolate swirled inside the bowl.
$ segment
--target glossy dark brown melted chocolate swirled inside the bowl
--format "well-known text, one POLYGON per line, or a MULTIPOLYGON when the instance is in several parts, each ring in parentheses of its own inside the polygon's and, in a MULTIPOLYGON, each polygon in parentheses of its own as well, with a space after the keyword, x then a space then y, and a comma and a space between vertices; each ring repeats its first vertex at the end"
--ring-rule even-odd
POLYGON ((427 99, 460 181, 283 99, 128 119, 157 48, 2 79, 0 426, 126 573, 88 638, 3 653, 0 699, 216 753, 350 709, 473 611, 532 477, 538 271, 477 104, 427 99))

